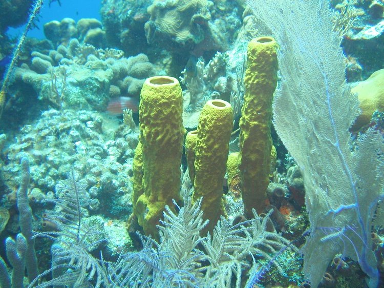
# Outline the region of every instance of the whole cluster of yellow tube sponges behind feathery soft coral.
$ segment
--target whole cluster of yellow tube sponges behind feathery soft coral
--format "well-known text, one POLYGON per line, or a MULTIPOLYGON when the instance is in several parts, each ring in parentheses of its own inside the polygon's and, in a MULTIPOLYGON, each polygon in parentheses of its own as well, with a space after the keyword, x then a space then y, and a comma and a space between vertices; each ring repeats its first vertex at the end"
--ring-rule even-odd
MULTIPOLYGON (((277 84, 277 44, 273 38, 259 37, 248 45, 245 95, 240 119, 240 152, 228 163, 230 178, 241 176, 244 214, 252 217, 266 207, 266 191, 272 159, 272 99, 277 84)), ((146 235, 158 239, 156 225, 165 205, 180 201, 180 166, 185 129, 182 124, 182 91, 173 77, 145 80, 139 107, 140 143, 134 159, 134 213, 146 235)), ((221 99, 204 105, 197 131, 187 134, 185 152, 189 177, 194 183, 193 201, 201 197, 204 219, 202 231, 212 231, 221 216, 226 216, 223 180, 227 168, 233 128, 231 105, 221 99)), ((275 152, 275 151, 273 151, 275 152)))

